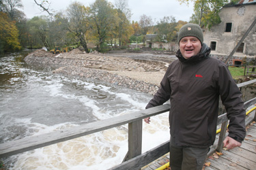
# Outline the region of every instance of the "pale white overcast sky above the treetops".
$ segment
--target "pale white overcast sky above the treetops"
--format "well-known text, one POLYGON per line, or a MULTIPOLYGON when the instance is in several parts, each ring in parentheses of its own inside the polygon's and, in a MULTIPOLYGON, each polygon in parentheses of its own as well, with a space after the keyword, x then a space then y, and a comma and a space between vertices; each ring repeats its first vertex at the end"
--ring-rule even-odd
MULTIPOLYGON (((33 18, 33 16, 48 15, 46 12, 42 12, 40 7, 35 4, 33 0, 21 0, 23 3, 23 12, 27 18, 33 18)), ((42 0, 38 0, 40 2, 42 0)), ((48 0, 51 1, 51 9, 59 12, 66 10, 70 3, 74 0, 48 0)), ((95 0, 76 0, 81 2, 85 6, 89 6, 95 2, 95 0)), ((111 3, 115 3, 115 0, 108 0, 111 3)), ((183 20, 189 21, 193 14, 193 4, 189 6, 186 4, 180 5, 177 0, 127 0, 128 8, 132 13, 131 20, 138 21, 140 16, 145 14, 151 16, 152 20, 156 21, 164 18, 164 16, 173 16, 176 21, 183 20)))

